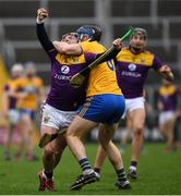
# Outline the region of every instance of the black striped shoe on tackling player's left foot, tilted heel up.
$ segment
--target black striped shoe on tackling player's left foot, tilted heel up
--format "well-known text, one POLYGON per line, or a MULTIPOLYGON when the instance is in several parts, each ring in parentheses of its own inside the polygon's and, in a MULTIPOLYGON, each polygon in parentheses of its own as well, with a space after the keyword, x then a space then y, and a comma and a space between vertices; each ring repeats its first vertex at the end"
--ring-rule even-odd
POLYGON ((70 187, 70 189, 81 189, 85 184, 90 184, 90 183, 94 183, 97 181, 97 177, 96 177, 96 174, 93 172, 93 173, 89 173, 89 174, 86 174, 86 175, 80 175, 75 183, 73 183, 70 187))

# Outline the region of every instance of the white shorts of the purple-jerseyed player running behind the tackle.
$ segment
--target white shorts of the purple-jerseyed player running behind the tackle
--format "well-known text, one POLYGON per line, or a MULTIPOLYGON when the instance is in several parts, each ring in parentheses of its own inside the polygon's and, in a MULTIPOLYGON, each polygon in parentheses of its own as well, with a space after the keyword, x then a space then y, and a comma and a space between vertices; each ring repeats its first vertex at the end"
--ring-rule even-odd
POLYGON ((144 97, 136 97, 132 99, 125 99, 125 111, 122 115, 122 119, 125 118, 125 115, 135 110, 135 109, 143 109, 145 110, 145 98, 144 97))

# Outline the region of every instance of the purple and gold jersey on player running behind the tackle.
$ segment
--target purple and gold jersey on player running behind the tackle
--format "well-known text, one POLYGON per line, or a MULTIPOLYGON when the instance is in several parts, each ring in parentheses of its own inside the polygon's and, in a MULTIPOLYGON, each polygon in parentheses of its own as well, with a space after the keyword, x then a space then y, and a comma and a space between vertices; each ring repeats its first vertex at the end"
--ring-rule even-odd
POLYGON ((134 54, 123 48, 117 56, 117 78, 125 98, 143 96, 143 87, 149 69, 158 70, 162 63, 148 51, 134 54))

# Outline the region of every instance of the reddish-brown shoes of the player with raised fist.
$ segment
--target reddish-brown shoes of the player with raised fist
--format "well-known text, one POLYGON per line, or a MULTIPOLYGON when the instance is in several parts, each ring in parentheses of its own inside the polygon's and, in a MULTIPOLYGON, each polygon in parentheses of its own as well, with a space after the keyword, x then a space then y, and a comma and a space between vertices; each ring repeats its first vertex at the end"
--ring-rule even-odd
POLYGON ((45 189, 47 188, 50 192, 56 192, 56 187, 55 187, 55 181, 52 179, 47 179, 43 175, 43 171, 40 171, 38 173, 38 177, 39 177, 39 192, 45 192, 45 189))

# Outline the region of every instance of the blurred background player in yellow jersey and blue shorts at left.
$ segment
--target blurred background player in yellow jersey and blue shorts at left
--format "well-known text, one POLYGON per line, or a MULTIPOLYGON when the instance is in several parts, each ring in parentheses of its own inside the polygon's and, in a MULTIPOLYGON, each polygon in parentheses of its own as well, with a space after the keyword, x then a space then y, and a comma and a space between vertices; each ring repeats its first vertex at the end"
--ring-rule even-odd
POLYGON ((25 76, 16 81, 16 89, 20 94, 24 94, 17 101, 20 110, 22 143, 16 152, 16 158, 20 159, 22 148, 25 148, 26 159, 36 160, 34 154, 35 139, 35 112, 38 103, 44 100, 44 86, 40 77, 36 76, 36 69, 33 62, 25 64, 25 76))

